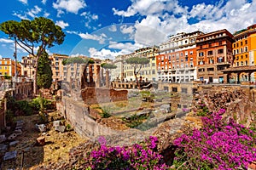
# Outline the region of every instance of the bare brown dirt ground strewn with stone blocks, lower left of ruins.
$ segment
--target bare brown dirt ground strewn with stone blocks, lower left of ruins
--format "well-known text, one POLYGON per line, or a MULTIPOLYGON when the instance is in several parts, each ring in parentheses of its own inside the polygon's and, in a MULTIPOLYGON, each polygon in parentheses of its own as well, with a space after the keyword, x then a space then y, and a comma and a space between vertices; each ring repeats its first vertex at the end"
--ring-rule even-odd
MULTIPOLYGON (((49 113, 49 119, 59 120, 55 112, 49 113)), ((68 152, 73 146, 85 142, 87 139, 81 139, 73 130, 60 133, 52 127, 52 122, 46 124, 47 131, 40 133, 35 124, 39 122, 38 115, 20 116, 16 120, 23 120, 24 126, 22 134, 15 140, 19 141, 15 146, 9 147, 8 151, 17 150, 15 160, 3 161, 3 170, 5 169, 36 169, 40 165, 49 164, 55 161, 67 161, 68 152), (45 145, 36 144, 36 139, 40 136, 45 137, 45 145), (22 165, 23 157, 23 165, 22 165)), ((65 122, 67 125, 67 122, 65 122)), ((1 168, 0 168, 1 169, 1 168)))

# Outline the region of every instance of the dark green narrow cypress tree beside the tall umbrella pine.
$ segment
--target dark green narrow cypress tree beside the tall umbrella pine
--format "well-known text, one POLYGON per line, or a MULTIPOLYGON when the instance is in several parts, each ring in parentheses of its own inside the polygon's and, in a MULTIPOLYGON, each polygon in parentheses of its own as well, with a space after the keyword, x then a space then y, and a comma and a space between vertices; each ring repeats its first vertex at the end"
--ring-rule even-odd
POLYGON ((52 82, 52 71, 50 67, 49 55, 45 52, 38 59, 38 88, 50 88, 52 82))

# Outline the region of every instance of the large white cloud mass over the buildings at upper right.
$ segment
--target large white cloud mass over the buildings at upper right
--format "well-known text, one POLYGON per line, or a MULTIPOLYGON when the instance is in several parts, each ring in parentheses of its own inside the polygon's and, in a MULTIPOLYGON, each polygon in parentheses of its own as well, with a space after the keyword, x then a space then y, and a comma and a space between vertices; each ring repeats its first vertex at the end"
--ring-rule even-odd
POLYGON ((145 16, 143 20, 137 20, 134 38, 137 43, 149 45, 165 42, 167 36, 181 31, 200 30, 207 33, 225 28, 233 33, 256 23, 255 8, 256 1, 248 3, 247 0, 199 3, 190 9, 179 5, 177 0, 133 0, 126 10, 113 8, 113 14, 145 16), (191 20, 194 20, 193 23, 190 23, 191 20))

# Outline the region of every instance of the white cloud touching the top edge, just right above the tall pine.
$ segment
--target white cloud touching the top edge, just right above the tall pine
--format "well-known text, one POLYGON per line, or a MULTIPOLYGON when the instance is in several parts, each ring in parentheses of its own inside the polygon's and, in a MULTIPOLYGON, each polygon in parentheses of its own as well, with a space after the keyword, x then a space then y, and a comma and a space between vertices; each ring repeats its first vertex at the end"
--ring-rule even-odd
POLYGON ((67 12, 78 14, 79 9, 86 7, 84 0, 57 0, 53 3, 56 9, 65 9, 67 12))

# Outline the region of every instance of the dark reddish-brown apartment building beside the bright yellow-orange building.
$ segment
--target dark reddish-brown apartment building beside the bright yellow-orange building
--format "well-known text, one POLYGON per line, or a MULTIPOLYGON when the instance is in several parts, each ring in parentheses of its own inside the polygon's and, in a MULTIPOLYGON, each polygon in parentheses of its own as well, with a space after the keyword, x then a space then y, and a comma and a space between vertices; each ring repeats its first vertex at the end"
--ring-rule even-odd
POLYGON ((233 35, 225 29, 196 38, 198 80, 224 82, 222 71, 233 63, 232 43, 233 35))

